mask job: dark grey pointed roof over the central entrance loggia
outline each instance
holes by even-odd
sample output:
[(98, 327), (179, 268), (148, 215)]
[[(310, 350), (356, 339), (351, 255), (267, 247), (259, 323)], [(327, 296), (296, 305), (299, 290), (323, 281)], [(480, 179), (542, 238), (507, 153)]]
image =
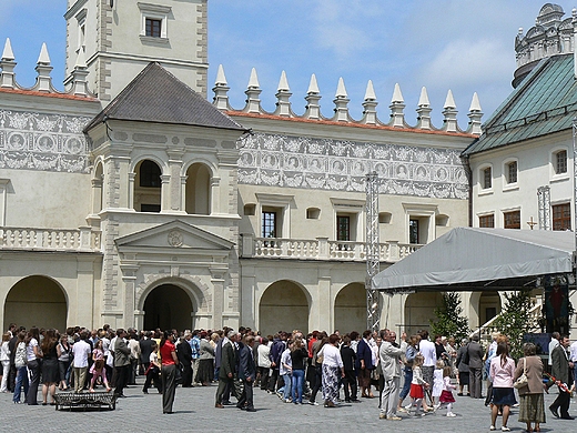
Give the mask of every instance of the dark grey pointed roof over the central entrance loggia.
[(158, 62), (149, 63), (84, 131), (104, 120), (246, 130)]

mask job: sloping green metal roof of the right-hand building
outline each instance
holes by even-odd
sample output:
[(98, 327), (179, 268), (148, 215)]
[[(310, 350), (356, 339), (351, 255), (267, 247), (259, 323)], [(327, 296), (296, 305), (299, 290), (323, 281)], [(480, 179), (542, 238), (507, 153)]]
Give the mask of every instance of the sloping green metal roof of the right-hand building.
[(544, 59), (493, 113), (470, 155), (571, 128), (577, 111), (574, 57)]

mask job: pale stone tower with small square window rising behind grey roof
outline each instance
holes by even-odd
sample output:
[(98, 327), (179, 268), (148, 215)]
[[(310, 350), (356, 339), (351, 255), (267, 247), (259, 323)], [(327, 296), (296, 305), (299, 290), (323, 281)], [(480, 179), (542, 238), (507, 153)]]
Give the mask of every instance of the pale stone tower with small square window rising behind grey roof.
[(64, 85), (75, 66), (108, 104), (151, 61), (206, 97), (207, 0), (68, 0)]

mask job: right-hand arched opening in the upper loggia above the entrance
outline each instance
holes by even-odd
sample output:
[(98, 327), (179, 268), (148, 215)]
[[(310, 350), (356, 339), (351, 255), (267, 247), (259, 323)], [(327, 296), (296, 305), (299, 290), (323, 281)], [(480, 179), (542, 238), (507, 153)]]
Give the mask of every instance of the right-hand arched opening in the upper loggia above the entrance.
[(211, 168), (195, 162), (186, 169), (184, 209), (186, 213), (209, 215), (211, 213)]

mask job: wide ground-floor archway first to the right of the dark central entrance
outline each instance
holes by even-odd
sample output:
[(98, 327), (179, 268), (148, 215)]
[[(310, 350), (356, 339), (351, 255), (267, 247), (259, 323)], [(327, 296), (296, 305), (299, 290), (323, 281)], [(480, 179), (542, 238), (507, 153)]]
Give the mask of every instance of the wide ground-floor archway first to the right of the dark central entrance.
[(308, 332), (308, 301), (303, 289), (287, 280), (272, 283), (259, 304), (259, 330), (263, 335), (279, 331)]

